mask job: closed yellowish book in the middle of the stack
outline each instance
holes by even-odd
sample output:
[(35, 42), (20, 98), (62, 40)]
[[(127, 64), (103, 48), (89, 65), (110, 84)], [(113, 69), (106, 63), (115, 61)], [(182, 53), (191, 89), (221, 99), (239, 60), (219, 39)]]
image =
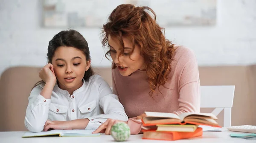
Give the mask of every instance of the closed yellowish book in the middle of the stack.
[(195, 132), (198, 128), (198, 125), (180, 125), (180, 124), (165, 124), (157, 125), (157, 132), (167, 131), (167, 132)]

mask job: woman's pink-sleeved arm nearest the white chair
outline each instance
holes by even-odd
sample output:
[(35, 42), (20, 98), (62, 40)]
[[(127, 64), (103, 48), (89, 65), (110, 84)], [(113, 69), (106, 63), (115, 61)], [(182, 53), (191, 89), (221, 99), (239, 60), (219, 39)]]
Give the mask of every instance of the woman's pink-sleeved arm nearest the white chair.
[(200, 112), (200, 80), (195, 54), (186, 50), (177, 64), (183, 66), (179, 69), (179, 109), (173, 113)]

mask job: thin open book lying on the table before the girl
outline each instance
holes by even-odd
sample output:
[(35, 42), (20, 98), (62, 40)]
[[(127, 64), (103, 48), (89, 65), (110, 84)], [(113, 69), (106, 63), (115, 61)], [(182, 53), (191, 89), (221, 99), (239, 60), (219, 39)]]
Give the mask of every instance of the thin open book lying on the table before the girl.
[(42, 137), (58, 135), (60, 137), (88, 137), (100, 136), (100, 134), (92, 134), (95, 129), (73, 129), (73, 130), (59, 130), (54, 129), (47, 132), (26, 132), (22, 137)]

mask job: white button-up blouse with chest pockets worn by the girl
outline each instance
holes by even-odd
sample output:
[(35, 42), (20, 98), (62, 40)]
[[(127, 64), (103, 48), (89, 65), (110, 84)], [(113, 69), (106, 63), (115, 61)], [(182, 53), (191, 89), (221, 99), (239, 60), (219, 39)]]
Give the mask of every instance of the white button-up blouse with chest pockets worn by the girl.
[(85, 129), (97, 129), (107, 118), (128, 120), (117, 95), (112, 93), (108, 83), (99, 75), (84, 81), (73, 95), (55, 84), (51, 99), (46, 99), (40, 95), (44, 85), (36, 86), (29, 96), (25, 126), (31, 132), (41, 132), (47, 119), (70, 121), (88, 118), (90, 121)]

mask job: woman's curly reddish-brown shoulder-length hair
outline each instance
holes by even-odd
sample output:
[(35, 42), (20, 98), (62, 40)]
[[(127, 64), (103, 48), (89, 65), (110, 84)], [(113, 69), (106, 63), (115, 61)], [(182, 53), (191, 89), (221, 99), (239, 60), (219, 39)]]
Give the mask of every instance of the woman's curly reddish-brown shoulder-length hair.
[[(151, 97), (156, 88), (159, 90), (160, 86), (165, 87), (167, 76), (172, 70), (169, 59), (174, 53), (174, 45), (165, 38), (164, 32), (165, 29), (157, 24), (156, 14), (151, 8), (136, 7), (132, 4), (117, 6), (108, 17), (108, 22), (103, 25), (102, 45), (108, 49), (106, 57), (110, 54), (109, 35), (119, 40), (122, 49), (124, 49), (122, 37), (131, 40), (132, 52), (135, 45), (139, 46), (140, 54), (145, 59)], [(112, 68), (116, 68), (116, 65), (113, 64)]]

